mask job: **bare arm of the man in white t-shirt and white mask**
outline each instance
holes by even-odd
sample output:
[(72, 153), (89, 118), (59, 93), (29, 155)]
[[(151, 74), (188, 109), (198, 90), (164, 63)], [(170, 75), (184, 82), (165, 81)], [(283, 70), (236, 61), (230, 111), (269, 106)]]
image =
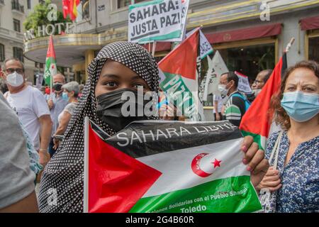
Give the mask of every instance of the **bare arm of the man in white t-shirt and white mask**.
[(40, 156), (40, 165), (45, 165), (47, 162), (49, 162), (47, 148), (50, 143), (51, 138), (51, 131), (52, 131), (52, 121), (50, 115), (43, 115), (40, 116), (39, 122), (40, 122), (40, 150), (39, 150), (39, 156)]

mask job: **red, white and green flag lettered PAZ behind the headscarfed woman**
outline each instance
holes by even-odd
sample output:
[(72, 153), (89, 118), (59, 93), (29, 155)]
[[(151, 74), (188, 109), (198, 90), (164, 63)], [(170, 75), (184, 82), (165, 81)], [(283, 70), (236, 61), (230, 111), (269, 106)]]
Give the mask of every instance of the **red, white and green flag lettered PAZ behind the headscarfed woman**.
[(174, 102), (183, 116), (191, 121), (203, 121), (203, 106), (198, 99), (198, 80), (201, 72), (199, 56), (199, 28), (169, 52), (159, 63), (159, 87), (167, 92), (169, 102)]

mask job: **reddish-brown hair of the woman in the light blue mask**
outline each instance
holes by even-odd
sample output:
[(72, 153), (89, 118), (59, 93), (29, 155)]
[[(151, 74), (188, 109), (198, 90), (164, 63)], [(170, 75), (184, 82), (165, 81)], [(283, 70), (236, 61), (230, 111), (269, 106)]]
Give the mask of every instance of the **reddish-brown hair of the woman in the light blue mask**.
[[(305, 68), (313, 71), (315, 76), (319, 79), (319, 64), (315, 61), (301, 61), (297, 62), (296, 65), (289, 67), (284, 73), (284, 79), (281, 81), (280, 90), (272, 96), (272, 101), (270, 103), (271, 113), (274, 113), (274, 119), (277, 124), (280, 124), (284, 130), (288, 130), (290, 128), (290, 118), (284, 108), (281, 106), (281, 99), (284, 96), (284, 90), (286, 87), (286, 81), (291, 74), (296, 69)], [(272, 116), (270, 114), (269, 116)]]

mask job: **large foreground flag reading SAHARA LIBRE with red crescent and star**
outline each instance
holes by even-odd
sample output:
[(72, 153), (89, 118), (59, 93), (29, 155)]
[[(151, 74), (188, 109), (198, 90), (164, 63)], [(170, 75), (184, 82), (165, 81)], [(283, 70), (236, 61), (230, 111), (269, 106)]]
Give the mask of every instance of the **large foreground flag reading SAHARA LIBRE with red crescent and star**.
[(135, 121), (108, 136), (86, 118), (85, 212), (261, 209), (228, 121)]

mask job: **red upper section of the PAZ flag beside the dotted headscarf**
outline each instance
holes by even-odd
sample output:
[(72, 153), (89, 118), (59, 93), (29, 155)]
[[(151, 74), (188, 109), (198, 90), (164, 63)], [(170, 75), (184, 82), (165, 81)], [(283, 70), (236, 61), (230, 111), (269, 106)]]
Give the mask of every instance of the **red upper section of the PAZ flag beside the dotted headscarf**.
[(162, 72), (179, 74), (182, 77), (196, 79), (198, 40), (199, 28), (158, 63)]

